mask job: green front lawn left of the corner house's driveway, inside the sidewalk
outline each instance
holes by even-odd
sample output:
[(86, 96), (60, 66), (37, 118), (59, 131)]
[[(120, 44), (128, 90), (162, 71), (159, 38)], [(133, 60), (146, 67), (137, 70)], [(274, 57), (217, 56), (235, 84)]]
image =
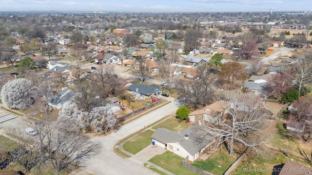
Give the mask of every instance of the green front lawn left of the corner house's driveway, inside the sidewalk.
[(139, 134), (137, 137), (125, 142), (122, 148), (135, 155), (148, 145), (152, 144), (151, 136), (153, 133), (154, 131), (147, 130)]

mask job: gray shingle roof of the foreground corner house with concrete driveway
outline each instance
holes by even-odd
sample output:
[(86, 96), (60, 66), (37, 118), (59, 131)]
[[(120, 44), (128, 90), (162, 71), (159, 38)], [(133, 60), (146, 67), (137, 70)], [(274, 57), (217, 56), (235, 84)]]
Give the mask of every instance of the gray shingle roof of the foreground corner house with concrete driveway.
[[(166, 128), (158, 128), (152, 135), (152, 138), (160, 141), (161, 143), (179, 143), (188, 153), (195, 155), (199, 150), (207, 146), (213, 140), (212, 136), (206, 135), (204, 140), (196, 140), (195, 135), (198, 134), (196, 126), (192, 125), (180, 133), (178, 131), (171, 131)], [(185, 135), (189, 136), (189, 139), (184, 138)]]

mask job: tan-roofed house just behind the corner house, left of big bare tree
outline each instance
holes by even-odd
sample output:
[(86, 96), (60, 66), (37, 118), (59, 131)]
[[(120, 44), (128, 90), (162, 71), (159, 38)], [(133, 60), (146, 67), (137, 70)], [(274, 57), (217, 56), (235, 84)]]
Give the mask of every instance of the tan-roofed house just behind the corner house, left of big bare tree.
[(189, 114), (191, 122), (204, 120), (209, 123), (218, 123), (223, 113), (229, 108), (229, 104), (225, 101), (217, 101), (211, 105), (207, 105), (201, 109), (197, 109)]

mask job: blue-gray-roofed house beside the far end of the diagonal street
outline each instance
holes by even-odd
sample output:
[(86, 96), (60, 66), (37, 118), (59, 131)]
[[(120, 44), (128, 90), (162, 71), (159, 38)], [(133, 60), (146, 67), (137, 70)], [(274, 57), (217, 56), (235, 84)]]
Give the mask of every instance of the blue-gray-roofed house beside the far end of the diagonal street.
[(131, 93), (136, 98), (140, 99), (151, 99), (154, 96), (158, 96), (162, 94), (162, 89), (158, 88), (156, 85), (143, 85), (134, 83), (127, 88), (128, 93)]

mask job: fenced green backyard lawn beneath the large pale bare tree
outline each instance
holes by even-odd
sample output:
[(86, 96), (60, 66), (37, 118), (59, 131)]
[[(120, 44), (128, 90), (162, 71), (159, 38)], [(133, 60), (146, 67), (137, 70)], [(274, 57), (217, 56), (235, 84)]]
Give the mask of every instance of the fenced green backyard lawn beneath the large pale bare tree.
[[(196, 160), (192, 164), (206, 172), (215, 173), (217, 175), (223, 175), (223, 173), (232, 165), (239, 155), (234, 154), (230, 156), (225, 147), (215, 150), (212, 155), (206, 160)], [(221, 167), (218, 167), (221, 166)]]

